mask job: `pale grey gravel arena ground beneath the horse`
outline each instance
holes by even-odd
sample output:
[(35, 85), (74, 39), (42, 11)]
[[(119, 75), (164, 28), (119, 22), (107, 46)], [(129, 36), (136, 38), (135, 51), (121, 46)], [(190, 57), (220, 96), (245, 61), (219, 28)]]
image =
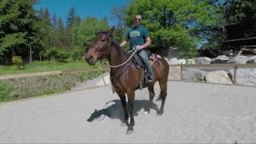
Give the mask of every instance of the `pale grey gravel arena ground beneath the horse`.
[(160, 117), (143, 114), (147, 100), (146, 89), (136, 91), (130, 135), (110, 86), (0, 103), (0, 143), (256, 142), (255, 87), (168, 82)]

